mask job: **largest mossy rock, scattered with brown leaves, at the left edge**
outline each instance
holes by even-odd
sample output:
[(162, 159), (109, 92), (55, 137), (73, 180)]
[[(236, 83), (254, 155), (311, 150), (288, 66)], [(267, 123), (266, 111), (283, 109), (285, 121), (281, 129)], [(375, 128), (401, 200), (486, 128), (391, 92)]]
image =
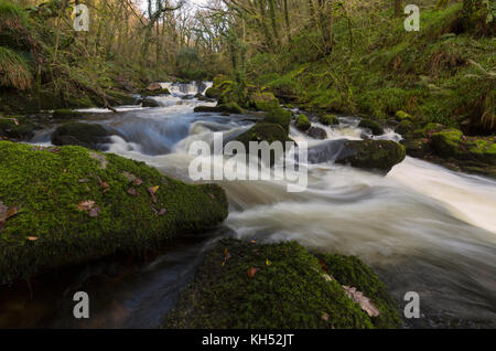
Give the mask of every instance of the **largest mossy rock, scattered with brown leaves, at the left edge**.
[[(10, 141), (0, 141), (0, 284), (153, 249), (227, 216), (219, 187), (185, 184), (116, 155)], [(2, 221), (2, 206), (17, 214)]]

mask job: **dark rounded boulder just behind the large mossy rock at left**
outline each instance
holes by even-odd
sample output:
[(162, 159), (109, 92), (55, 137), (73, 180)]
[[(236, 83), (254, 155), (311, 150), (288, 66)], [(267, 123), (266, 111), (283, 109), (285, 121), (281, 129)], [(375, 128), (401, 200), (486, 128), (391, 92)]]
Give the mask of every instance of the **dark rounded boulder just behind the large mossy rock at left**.
[(110, 134), (100, 125), (68, 123), (55, 129), (52, 142), (56, 146), (82, 146), (94, 150), (105, 150), (110, 141)]

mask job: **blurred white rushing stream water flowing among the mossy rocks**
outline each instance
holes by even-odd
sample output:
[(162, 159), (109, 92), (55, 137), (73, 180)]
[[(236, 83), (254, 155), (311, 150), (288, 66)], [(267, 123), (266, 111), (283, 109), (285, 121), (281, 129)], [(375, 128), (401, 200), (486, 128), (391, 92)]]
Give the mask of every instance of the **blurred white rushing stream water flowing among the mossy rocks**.
[[(209, 84), (164, 86), (173, 94), (157, 97), (158, 108), (123, 106), (117, 115), (103, 109), (85, 111), (90, 123), (114, 131), (109, 152), (145, 161), (190, 181), (191, 142), (212, 141), (214, 132), (219, 131), (226, 137), (242, 132), (252, 125), (252, 118), (194, 114), (195, 106), (208, 103), (190, 95)], [(343, 117), (337, 127), (314, 126), (325, 129), (327, 139), (360, 139), (366, 131), (357, 124), (356, 118)], [(48, 143), (53, 130), (54, 126), (39, 132), (32, 142)], [(293, 128), (291, 137), (308, 141), (311, 148), (328, 142), (313, 140)], [(380, 138), (398, 141), (400, 136), (389, 130)], [(34, 302), (18, 302), (18, 313), (33, 306), (40, 310), (35, 317), (20, 318), (19, 323), (159, 327), (181, 288), (193, 277), (206, 247), (215, 237), (234, 235), (265, 242), (298, 241), (309, 248), (359, 256), (379, 273), (400, 304), (405, 304), (407, 291), (420, 294), (422, 318), (406, 320), (409, 327), (495, 327), (494, 180), (413, 158), (407, 158), (387, 177), (330, 163), (306, 167), (309, 188), (301, 193), (287, 192), (283, 181), (220, 182), (230, 204), (225, 226), (205, 237), (177, 243), (144, 267), (117, 275), (118, 279), (116, 274), (101, 274), (108, 265), (86, 268), (72, 287), (54, 289), (48, 297), (58, 300), (53, 302), (58, 312), (53, 308), (46, 311), (46, 302), (40, 301), (47, 298), (43, 294), (37, 300), (35, 296)], [(89, 323), (71, 318), (67, 291), (75, 289), (74, 285), (96, 295), (96, 317)]]

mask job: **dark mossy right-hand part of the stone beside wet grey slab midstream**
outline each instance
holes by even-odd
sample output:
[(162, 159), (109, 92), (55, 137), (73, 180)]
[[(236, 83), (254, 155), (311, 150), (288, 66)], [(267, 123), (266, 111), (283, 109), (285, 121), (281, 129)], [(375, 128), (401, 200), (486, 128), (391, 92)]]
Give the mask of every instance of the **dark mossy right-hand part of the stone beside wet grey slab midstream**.
[(336, 158), (336, 163), (388, 173), (402, 162), (407, 151), (405, 146), (390, 140), (346, 140)]

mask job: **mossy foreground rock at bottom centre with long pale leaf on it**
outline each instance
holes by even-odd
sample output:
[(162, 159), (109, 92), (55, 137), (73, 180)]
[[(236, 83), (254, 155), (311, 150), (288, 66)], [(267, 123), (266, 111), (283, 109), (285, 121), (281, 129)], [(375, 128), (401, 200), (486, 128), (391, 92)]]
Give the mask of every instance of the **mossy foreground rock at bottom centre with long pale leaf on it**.
[[(369, 317), (343, 285), (359, 287), (380, 315)], [(293, 242), (261, 245), (228, 238), (206, 255), (164, 327), (398, 328), (400, 319), (384, 284), (357, 258), (326, 255), (320, 263)]]

